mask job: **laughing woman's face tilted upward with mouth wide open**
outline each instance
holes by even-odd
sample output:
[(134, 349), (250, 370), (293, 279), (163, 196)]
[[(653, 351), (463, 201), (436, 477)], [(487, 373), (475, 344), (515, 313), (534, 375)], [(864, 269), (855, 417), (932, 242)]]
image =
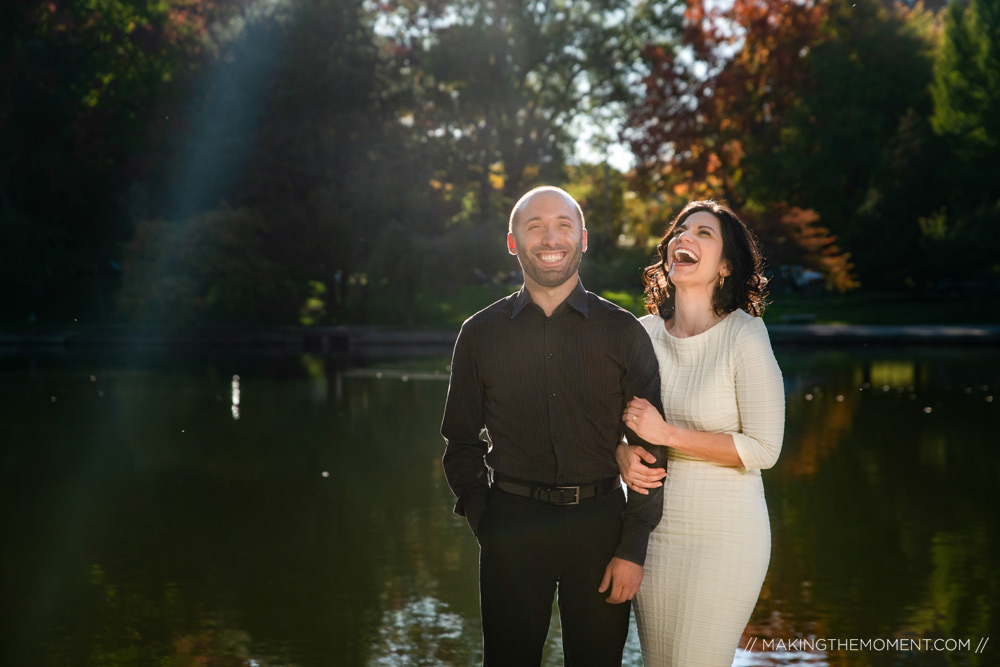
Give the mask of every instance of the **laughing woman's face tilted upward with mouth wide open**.
[(722, 258), (722, 223), (708, 211), (692, 213), (667, 243), (667, 275), (676, 286), (717, 284), (731, 272)]

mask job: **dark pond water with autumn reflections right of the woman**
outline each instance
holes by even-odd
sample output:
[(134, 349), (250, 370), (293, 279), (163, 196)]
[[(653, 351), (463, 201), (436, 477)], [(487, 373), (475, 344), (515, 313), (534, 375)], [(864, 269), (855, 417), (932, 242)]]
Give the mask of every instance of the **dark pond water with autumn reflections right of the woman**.
[[(786, 449), (767, 481), (775, 548), (746, 643), (753, 637), (978, 641), (996, 630), (1000, 578), (985, 564), (1000, 555), (994, 492), (1000, 457), (987, 426), (997, 413), (985, 397), (988, 381), (1000, 373), (980, 354), (781, 355)], [(966, 391), (973, 385), (976, 391)], [(977, 550), (963, 543), (935, 558), (937, 544), (950, 542), (946, 536), (968, 533), (982, 538)], [(980, 566), (958, 573), (947, 564), (952, 558)], [(964, 618), (972, 609), (979, 612), (975, 621)], [(829, 665), (992, 662), (970, 651), (845, 650), (820, 657)]]

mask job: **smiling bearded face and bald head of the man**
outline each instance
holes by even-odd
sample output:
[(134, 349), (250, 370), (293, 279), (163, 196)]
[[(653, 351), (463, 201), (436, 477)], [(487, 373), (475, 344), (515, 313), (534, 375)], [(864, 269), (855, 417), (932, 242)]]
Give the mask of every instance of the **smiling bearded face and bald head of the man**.
[(517, 255), (526, 282), (558, 287), (576, 278), (587, 230), (565, 195), (539, 192), (521, 205), (507, 246)]

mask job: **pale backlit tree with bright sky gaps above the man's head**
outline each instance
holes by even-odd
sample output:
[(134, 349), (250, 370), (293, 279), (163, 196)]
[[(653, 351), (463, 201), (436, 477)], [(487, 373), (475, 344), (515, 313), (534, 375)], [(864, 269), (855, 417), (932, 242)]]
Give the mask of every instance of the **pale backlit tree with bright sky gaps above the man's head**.
[(640, 45), (675, 22), (672, 4), (612, 0), (382, 7), (414, 93), (407, 120), (434, 147), (436, 180), (472, 195), (459, 212), (474, 225), (561, 180), (574, 118), (624, 99)]

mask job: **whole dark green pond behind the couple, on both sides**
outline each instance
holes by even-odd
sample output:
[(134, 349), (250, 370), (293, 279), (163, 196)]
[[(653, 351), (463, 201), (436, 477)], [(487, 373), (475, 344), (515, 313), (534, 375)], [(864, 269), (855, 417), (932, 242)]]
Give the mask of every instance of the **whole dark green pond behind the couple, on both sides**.
[[(735, 664), (998, 664), (1000, 355), (776, 352), (772, 559)], [(0, 663), (476, 664), (447, 366), (0, 357)]]

